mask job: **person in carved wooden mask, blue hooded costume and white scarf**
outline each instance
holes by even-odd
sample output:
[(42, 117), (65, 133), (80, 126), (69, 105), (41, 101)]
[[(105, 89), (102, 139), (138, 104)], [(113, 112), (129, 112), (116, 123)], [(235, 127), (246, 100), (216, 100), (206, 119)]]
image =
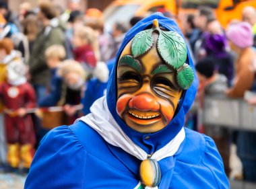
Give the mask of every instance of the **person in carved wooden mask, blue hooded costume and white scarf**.
[(183, 128), (194, 75), (173, 20), (155, 13), (138, 22), (106, 96), (88, 116), (44, 137), (25, 188), (228, 188), (214, 141)]

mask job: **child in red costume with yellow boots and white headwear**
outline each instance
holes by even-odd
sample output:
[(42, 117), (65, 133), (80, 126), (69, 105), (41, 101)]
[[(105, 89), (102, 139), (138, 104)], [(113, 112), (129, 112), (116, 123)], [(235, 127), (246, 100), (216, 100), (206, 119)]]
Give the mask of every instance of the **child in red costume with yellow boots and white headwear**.
[(36, 94), (26, 81), (26, 72), (22, 61), (12, 61), (7, 65), (7, 81), (0, 85), (5, 107), (7, 163), (11, 170), (22, 163), (27, 171), (34, 157), (34, 127), (27, 110), (36, 107)]

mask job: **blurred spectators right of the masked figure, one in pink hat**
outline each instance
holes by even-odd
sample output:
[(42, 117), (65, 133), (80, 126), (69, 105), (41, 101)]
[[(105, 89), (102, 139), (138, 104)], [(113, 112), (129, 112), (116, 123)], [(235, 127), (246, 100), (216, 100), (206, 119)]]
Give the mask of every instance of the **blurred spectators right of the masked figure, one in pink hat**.
[(256, 133), (203, 126), (200, 119), (205, 96), (244, 98), (251, 106), (256, 104), (255, 8), (245, 7), (241, 15), (242, 20), (232, 20), (227, 28), (222, 28), (209, 7), (199, 7), (187, 16), (184, 33), (199, 80), (187, 126), (214, 139), (231, 179), (255, 182)]

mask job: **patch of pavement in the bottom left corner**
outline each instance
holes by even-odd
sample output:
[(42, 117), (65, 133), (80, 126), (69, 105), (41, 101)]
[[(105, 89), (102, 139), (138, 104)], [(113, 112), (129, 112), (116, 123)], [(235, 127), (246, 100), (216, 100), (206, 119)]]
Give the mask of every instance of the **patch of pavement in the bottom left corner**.
[(1, 189), (23, 189), (26, 176), (18, 174), (3, 174), (0, 173), (0, 188)]

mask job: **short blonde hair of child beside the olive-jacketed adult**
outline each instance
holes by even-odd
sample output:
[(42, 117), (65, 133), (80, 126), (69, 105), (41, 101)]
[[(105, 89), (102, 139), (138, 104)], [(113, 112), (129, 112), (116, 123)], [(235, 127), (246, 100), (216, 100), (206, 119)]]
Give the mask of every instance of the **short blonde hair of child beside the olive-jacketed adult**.
[(45, 50), (45, 56), (46, 56), (46, 59), (57, 58), (60, 61), (63, 61), (66, 56), (65, 48), (64, 48), (64, 46), (59, 45), (59, 44), (49, 46)]

